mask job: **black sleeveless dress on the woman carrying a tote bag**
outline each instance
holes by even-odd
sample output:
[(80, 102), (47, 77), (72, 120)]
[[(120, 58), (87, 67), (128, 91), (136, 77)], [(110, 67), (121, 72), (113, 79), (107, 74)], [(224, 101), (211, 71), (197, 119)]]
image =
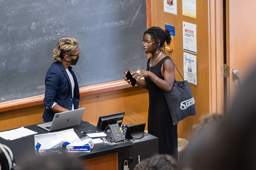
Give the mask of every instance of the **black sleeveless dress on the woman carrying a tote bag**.
[[(154, 67), (149, 67), (150, 59), (147, 62), (147, 71), (153, 72), (157, 75), (158, 80), (164, 79), (161, 74), (161, 67), (166, 56)], [(177, 157), (178, 141), (177, 141), (177, 125), (172, 124), (172, 118), (169, 108), (161, 88), (159, 88), (150, 78), (145, 77), (148, 87), (149, 107), (148, 107), (148, 133), (158, 137), (159, 154), (169, 154)]]

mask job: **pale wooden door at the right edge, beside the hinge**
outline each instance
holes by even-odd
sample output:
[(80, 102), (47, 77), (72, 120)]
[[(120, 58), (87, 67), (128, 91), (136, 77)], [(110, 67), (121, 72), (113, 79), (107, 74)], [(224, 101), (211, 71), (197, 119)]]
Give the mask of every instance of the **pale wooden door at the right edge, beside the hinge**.
[(226, 79), (224, 95), (226, 95), (227, 112), (241, 88), (239, 81), (233, 81), (236, 78), (233, 69), (237, 68), (241, 74), (240, 82), (244, 84), (251, 71), (256, 68), (255, 6), (254, 0), (226, 0), (226, 63), (229, 66), (229, 78)]

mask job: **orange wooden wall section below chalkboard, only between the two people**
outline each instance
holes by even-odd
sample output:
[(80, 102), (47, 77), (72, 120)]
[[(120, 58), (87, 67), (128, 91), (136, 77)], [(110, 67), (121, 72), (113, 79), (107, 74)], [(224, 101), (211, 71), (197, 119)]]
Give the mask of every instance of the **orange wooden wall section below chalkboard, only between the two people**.
[(83, 120), (96, 126), (101, 115), (125, 112), (123, 123), (147, 123), (148, 91), (141, 88), (123, 91), (82, 97), (82, 107), (85, 107)]

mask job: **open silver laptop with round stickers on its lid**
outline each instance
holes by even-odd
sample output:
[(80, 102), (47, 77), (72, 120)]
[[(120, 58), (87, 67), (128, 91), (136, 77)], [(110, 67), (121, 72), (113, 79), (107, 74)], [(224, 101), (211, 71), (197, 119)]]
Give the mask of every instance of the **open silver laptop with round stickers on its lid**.
[(41, 123), (37, 126), (49, 132), (77, 126), (82, 120), (84, 110), (85, 108), (79, 108), (73, 111), (56, 113), (52, 122)]

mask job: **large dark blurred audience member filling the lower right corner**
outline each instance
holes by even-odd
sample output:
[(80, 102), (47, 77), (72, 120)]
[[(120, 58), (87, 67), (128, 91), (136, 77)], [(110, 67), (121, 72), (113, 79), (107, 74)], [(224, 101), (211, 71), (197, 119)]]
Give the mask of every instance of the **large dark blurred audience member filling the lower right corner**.
[[(250, 76), (249, 76), (250, 77)], [(256, 72), (219, 124), (202, 129), (189, 142), (181, 167), (192, 170), (256, 169)]]

